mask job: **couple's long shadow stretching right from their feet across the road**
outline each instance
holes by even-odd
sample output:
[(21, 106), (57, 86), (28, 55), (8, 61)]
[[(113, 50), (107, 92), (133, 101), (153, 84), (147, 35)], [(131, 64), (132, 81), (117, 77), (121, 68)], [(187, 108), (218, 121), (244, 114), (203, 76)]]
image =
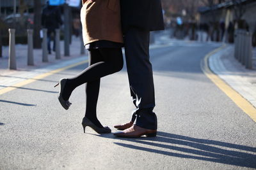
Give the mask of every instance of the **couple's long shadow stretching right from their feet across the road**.
[(171, 157), (205, 160), (232, 166), (256, 167), (256, 148), (250, 146), (236, 145), (211, 139), (191, 138), (167, 132), (157, 132), (156, 138), (115, 138), (112, 135), (101, 136), (103, 138), (131, 141), (132, 144), (121, 142), (115, 142), (115, 144), (135, 150), (143, 150)]

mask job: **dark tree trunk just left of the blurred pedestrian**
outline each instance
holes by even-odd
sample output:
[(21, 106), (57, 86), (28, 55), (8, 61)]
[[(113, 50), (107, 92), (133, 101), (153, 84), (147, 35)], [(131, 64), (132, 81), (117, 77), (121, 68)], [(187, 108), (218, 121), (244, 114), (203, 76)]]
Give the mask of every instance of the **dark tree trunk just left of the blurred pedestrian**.
[(42, 17), (42, 4), (41, 1), (34, 0), (34, 48), (41, 48), (40, 29)]

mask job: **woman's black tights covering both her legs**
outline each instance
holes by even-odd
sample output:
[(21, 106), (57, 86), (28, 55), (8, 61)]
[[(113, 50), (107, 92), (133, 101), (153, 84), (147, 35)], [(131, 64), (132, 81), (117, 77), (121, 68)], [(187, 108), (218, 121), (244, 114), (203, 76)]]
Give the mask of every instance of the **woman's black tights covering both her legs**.
[(67, 101), (74, 89), (86, 83), (85, 117), (95, 125), (102, 127), (97, 119), (97, 101), (99, 97), (100, 78), (116, 73), (124, 65), (122, 48), (97, 48), (89, 50), (89, 67), (73, 78), (68, 78), (63, 99)]

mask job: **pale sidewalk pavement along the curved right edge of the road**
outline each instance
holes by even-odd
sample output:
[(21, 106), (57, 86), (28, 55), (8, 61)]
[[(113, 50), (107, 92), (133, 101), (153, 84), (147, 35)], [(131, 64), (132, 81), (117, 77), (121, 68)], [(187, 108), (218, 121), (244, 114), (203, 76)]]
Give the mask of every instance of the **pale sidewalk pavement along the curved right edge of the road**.
[(209, 67), (256, 108), (256, 49), (253, 58), (253, 69), (245, 69), (234, 58), (234, 45), (226, 45), (209, 57)]

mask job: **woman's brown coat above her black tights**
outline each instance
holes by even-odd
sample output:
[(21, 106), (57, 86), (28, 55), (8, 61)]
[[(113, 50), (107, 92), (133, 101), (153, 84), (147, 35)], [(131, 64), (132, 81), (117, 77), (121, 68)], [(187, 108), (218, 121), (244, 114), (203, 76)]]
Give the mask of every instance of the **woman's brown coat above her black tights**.
[(99, 40), (124, 43), (120, 0), (82, 0), (81, 23), (84, 45)]

